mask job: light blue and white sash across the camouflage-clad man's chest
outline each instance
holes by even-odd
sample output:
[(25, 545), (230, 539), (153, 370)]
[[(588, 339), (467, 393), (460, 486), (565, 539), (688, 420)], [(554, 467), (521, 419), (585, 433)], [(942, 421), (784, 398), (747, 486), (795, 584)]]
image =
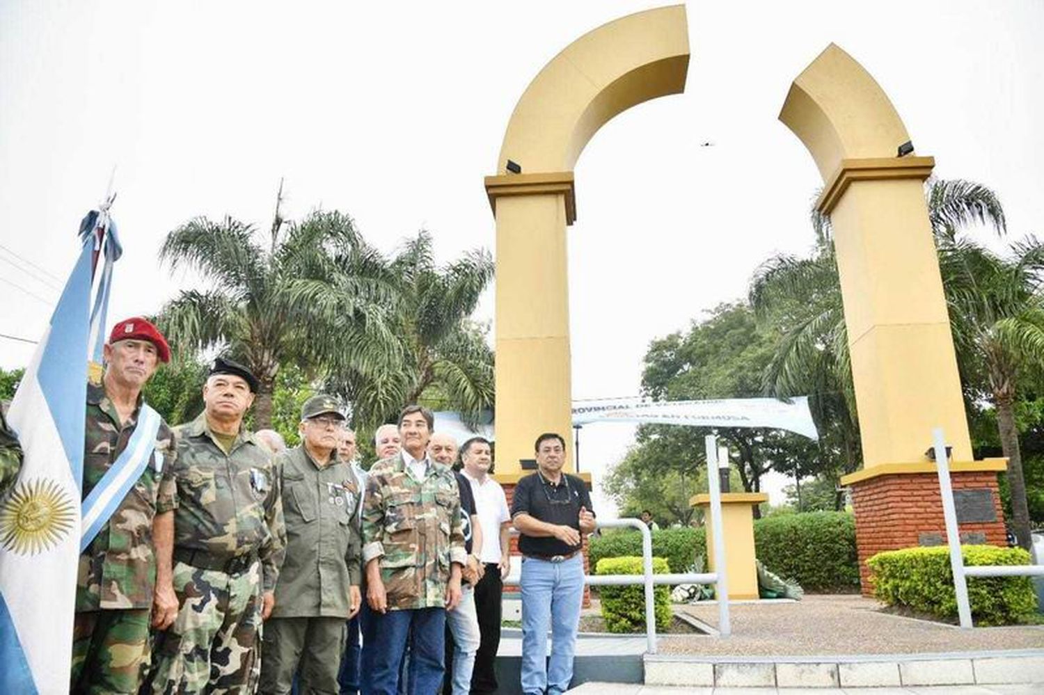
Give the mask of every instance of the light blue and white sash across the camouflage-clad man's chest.
[[(91, 545), (101, 527), (119, 508), (123, 498), (130, 492), (130, 487), (138, 482), (138, 478), (145, 471), (149, 459), (153, 458), (152, 450), (156, 448), (156, 435), (160, 431), (162, 422), (160, 413), (156, 412), (147, 403), (141, 404), (138, 424), (134, 428), (134, 434), (130, 435), (126, 448), (84, 500), (79, 552), (84, 552)], [(156, 452), (155, 458), (156, 469), (159, 472), (163, 468), (162, 454)]]

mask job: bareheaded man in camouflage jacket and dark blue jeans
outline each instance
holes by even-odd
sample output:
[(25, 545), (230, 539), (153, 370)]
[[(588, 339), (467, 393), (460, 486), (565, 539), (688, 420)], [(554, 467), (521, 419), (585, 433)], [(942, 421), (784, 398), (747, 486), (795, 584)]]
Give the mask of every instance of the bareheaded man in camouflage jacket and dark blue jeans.
[(460, 600), (467, 552), (456, 480), (427, 455), (433, 424), (427, 408), (404, 408), (402, 451), (370, 470), (362, 517), (366, 601), (374, 612), (374, 639), (363, 636), (367, 694), (397, 692), (407, 639), (407, 693), (432, 695), (443, 680), (446, 610)]

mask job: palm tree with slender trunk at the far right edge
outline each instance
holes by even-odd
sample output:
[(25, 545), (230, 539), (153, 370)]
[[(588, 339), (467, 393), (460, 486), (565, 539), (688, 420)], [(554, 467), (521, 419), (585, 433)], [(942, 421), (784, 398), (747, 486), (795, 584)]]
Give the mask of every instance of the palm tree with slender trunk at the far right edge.
[(1001, 451), (1007, 457), (1015, 534), (1029, 549), (1029, 510), (1015, 423), (1020, 377), (1044, 364), (1044, 244), (1029, 237), (1007, 258), (965, 240), (940, 246), (950, 327), (962, 381), (997, 409)]

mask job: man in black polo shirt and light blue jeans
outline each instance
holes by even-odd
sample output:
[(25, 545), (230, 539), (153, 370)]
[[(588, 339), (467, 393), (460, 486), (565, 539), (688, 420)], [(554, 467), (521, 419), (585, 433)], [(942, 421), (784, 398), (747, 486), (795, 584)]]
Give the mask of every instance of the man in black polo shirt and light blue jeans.
[[(521, 533), (522, 692), (555, 695), (569, 689), (584, 600), (583, 535), (595, 528), (591, 497), (576, 476), (562, 472), (566, 440), (537, 437), (537, 473), (519, 480), (512, 522)], [(551, 658), (547, 628), (551, 626)]]

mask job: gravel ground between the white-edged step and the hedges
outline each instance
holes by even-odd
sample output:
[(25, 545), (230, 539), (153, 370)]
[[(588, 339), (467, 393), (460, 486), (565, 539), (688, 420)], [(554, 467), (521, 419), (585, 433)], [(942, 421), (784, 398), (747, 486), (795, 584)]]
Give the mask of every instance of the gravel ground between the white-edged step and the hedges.
[[(660, 638), (661, 653), (734, 656), (898, 654), (1044, 648), (1044, 625), (955, 626), (879, 613), (861, 596), (806, 596), (794, 603), (731, 605), (732, 637)], [(717, 604), (673, 606), (717, 627)]]

